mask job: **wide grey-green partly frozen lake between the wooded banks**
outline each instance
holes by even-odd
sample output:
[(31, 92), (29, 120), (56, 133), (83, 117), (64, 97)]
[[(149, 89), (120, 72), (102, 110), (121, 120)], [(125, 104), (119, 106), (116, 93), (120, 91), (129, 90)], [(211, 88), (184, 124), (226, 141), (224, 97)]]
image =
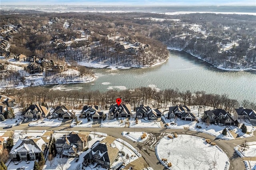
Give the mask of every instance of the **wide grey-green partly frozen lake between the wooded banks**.
[(169, 59), (150, 68), (92, 69), (90, 83), (56, 85), (53, 89), (99, 90), (152, 87), (227, 94), (231, 99), (256, 103), (256, 71), (224, 71), (183, 51), (170, 50)]

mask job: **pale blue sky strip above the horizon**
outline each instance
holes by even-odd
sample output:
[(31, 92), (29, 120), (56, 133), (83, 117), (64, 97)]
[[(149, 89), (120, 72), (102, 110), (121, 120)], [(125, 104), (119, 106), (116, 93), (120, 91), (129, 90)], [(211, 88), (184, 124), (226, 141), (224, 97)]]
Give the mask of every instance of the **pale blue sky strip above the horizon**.
[(0, 0), (2, 5), (256, 6), (256, 0)]

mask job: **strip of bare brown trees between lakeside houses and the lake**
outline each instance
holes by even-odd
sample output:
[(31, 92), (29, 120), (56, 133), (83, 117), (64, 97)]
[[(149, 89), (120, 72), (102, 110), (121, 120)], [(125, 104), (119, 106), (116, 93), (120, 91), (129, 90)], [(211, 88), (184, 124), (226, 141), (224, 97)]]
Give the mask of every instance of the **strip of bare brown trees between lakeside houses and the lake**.
[(233, 109), (243, 106), (256, 110), (255, 103), (244, 100), (239, 103), (236, 99), (230, 99), (228, 95), (208, 94), (205, 91), (179, 91), (178, 89), (165, 89), (156, 91), (150, 87), (126, 89), (122, 91), (60, 91), (50, 90), (45, 87), (28, 87), (25, 89), (6, 89), (3, 94), (13, 95), (17, 99), (19, 107), (26, 109), (30, 104), (41, 104), (49, 107), (58, 105), (71, 105), (76, 109), (82, 109), (84, 105), (99, 105), (101, 109), (108, 109), (116, 103), (116, 98), (121, 98), (122, 103), (130, 103), (132, 109), (139, 105), (151, 105), (155, 108), (168, 109), (175, 105), (198, 105), (199, 109), (211, 106), (214, 109), (223, 108), (232, 112)]

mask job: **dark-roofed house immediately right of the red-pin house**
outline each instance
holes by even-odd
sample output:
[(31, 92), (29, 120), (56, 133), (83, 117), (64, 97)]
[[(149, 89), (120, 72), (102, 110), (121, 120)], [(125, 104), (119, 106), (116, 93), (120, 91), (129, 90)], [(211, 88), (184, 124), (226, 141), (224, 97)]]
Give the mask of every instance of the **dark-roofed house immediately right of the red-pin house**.
[(149, 106), (140, 105), (140, 107), (136, 107), (135, 109), (136, 109), (136, 117), (138, 119), (147, 117), (149, 120), (156, 120), (157, 117), (162, 115), (159, 109), (152, 109)]

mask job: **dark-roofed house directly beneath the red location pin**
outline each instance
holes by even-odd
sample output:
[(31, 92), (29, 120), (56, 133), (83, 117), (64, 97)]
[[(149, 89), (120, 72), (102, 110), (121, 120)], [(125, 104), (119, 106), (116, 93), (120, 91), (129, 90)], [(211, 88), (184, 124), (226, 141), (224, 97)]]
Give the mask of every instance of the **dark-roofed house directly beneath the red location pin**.
[(114, 119), (119, 117), (131, 117), (131, 105), (130, 104), (120, 104), (119, 106), (111, 105), (108, 112), (108, 118)]

